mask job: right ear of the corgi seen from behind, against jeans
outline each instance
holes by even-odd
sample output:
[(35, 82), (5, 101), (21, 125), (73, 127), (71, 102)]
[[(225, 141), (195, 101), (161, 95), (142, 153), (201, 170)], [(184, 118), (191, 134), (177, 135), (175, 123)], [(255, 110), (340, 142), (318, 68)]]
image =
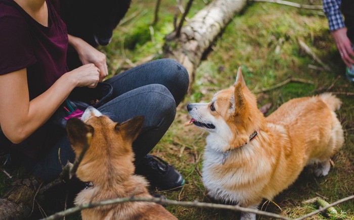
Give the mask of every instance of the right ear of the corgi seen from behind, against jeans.
[(137, 116), (131, 118), (121, 124), (117, 124), (115, 129), (122, 132), (126, 138), (130, 138), (131, 142), (134, 141), (140, 134), (144, 124), (144, 116)]

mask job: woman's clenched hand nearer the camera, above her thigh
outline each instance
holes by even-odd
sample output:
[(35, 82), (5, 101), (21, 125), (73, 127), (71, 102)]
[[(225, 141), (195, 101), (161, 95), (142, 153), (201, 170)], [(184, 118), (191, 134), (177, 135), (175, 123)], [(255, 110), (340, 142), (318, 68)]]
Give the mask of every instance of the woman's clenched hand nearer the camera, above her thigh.
[(100, 69), (94, 64), (86, 64), (68, 72), (73, 78), (75, 87), (87, 86), (95, 88), (100, 81)]

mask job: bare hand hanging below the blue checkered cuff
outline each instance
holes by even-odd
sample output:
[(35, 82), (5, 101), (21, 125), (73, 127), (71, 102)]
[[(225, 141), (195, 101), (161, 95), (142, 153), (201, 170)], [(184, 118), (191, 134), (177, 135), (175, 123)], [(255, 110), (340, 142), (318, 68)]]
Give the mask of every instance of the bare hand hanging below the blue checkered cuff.
[(331, 33), (340, 53), (340, 57), (345, 65), (350, 68), (351, 65), (354, 65), (354, 60), (352, 59), (354, 58), (354, 51), (352, 50), (350, 40), (346, 35), (346, 28), (340, 28)]

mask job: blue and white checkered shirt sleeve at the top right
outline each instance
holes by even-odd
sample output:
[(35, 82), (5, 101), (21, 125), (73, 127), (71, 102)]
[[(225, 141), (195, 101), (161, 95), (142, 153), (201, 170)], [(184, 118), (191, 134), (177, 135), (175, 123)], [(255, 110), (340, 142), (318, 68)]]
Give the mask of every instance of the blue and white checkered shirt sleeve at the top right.
[(340, 13), (341, 0), (322, 0), (322, 5), (328, 19), (330, 31), (345, 27), (342, 14)]

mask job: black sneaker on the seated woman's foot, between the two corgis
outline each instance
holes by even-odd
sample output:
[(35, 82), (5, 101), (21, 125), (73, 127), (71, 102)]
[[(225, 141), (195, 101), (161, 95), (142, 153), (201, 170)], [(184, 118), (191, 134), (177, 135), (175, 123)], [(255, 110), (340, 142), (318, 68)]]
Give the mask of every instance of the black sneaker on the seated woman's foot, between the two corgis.
[(180, 172), (161, 158), (149, 154), (140, 161), (136, 174), (145, 176), (151, 186), (160, 190), (180, 189), (185, 184)]

